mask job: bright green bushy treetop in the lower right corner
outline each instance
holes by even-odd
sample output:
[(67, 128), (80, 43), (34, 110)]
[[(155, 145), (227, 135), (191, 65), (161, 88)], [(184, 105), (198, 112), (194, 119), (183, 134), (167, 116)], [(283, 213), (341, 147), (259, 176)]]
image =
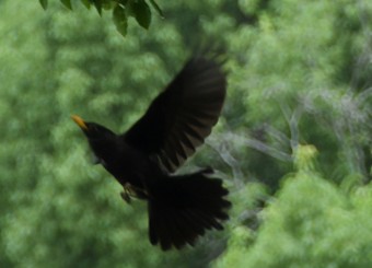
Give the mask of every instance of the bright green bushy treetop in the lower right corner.
[[(311, 165), (312, 160), (307, 162)], [(346, 194), (309, 171), (309, 165), (284, 179), (276, 198), (261, 212), (264, 224), (258, 234), (243, 226), (232, 230), (229, 250), (216, 267), (371, 265), (371, 185)]]

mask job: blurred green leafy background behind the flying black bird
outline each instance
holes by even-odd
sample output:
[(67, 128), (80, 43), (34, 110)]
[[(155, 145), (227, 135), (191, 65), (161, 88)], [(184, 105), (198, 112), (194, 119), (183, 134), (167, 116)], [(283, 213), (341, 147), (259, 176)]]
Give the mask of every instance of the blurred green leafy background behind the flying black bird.
[[(80, 1), (0, 1), (0, 267), (372, 267), (372, 1), (158, 3), (124, 38)], [(184, 168), (219, 171), (231, 220), (163, 253), (70, 115), (124, 131), (214, 43), (229, 95)]]

